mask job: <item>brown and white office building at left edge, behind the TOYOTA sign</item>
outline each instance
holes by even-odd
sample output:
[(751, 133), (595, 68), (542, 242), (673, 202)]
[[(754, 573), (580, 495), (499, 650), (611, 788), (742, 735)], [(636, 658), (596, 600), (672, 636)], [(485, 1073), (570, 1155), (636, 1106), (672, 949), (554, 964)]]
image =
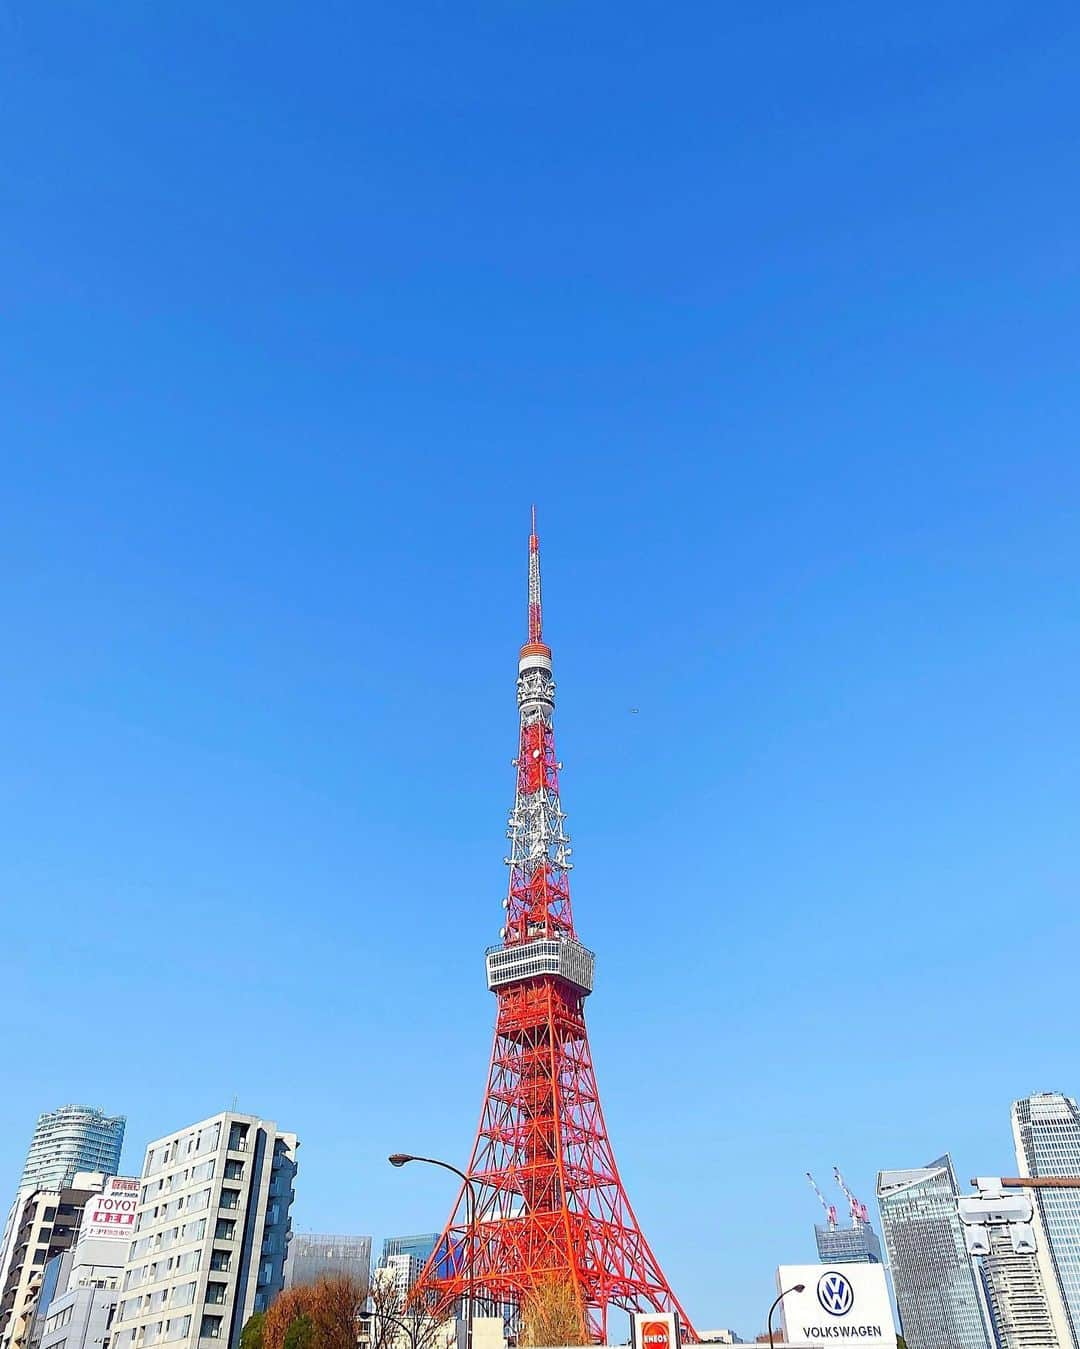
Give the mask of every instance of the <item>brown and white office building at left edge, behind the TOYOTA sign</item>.
[(76, 1242), (86, 1201), (100, 1193), (105, 1176), (77, 1174), (76, 1186), (20, 1190), (9, 1252), (0, 1288), (0, 1349), (22, 1349), (32, 1322), (49, 1261)]

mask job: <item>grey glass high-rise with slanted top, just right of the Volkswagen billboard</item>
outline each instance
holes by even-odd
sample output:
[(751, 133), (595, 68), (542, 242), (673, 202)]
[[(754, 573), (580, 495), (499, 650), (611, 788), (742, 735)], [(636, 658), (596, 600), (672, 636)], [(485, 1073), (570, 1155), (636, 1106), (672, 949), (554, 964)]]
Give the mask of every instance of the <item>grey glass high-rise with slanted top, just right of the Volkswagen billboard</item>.
[(956, 1211), (948, 1153), (878, 1174), (878, 1207), (909, 1349), (991, 1349), (983, 1290)]

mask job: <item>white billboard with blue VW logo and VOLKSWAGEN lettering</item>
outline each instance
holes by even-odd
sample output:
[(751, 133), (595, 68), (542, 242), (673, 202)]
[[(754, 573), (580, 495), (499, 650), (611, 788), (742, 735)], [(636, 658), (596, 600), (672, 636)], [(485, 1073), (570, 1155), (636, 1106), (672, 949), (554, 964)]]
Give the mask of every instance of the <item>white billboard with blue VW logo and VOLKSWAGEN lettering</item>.
[[(802, 1284), (802, 1292), (794, 1292)], [(781, 1265), (781, 1322), (789, 1345), (868, 1340), (894, 1349), (897, 1327), (879, 1264)]]

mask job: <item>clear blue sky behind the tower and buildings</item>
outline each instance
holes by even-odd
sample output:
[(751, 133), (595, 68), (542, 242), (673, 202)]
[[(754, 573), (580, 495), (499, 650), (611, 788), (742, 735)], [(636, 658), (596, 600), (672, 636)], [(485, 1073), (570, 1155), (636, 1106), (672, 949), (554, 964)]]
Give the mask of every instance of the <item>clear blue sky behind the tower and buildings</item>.
[[(1072, 5), (3, 0), (4, 1090), (441, 1224), (529, 503), (591, 1032), (701, 1325), (1076, 1050)], [(639, 707), (632, 716), (630, 707)], [(444, 1178), (445, 1179), (445, 1178)]]

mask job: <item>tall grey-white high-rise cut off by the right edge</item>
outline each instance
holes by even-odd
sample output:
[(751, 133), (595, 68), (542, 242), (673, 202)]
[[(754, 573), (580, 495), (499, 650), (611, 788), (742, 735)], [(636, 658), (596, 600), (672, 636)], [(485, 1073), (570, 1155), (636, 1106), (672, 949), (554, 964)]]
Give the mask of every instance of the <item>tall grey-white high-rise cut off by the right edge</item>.
[[(1042, 1091), (1013, 1102), (1013, 1140), (1023, 1176), (1080, 1176), (1080, 1109)], [(1080, 1346), (1080, 1190), (1033, 1188), (1038, 1267), (1061, 1349)]]

